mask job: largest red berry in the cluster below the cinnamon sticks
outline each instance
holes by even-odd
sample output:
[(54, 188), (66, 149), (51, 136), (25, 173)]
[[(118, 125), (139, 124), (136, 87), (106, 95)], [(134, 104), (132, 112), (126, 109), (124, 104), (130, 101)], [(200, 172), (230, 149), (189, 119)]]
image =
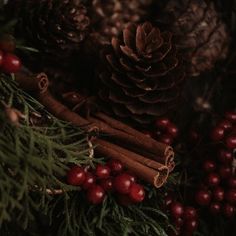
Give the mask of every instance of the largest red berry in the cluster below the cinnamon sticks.
[(127, 194), (130, 192), (132, 185), (131, 177), (129, 174), (123, 173), (114, 178), (113, 186), (118, 193)]

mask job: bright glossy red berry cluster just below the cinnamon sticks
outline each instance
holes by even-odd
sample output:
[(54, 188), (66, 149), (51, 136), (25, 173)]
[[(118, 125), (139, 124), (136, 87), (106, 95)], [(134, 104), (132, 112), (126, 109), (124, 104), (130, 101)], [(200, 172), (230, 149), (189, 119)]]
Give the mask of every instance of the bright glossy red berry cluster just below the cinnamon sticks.
[(108, 192), (116, 193), (123, 205), (142, 202), (145, 198), (143, 186), (136, 182), (134, 175), (124, 171), (124, 166), (117, 160), (98, 164), (95, 170), (74, 166), (67, 173), (67, 183), (81, 186), (92, 204), (102, 203)]

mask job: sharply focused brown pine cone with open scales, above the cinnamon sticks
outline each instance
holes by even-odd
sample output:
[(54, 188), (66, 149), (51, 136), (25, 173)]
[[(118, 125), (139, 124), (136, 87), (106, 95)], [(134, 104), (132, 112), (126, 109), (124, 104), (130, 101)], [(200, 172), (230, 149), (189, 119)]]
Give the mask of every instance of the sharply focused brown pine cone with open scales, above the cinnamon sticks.
[(185, 73), (171, 33), (129, 24), (102, 54), (99, 97), (109, 112), (144, 125), (175, 107)]

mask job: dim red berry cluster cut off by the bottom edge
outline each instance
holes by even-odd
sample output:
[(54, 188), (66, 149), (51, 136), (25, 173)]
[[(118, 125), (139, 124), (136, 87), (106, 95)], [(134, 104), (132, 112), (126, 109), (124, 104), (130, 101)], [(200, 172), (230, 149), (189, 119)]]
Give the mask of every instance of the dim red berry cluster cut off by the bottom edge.
[(184, 206), (175, 201), (171, 195), (165, 197), (165, 206), (170, 212), (176, 232), (170, 230), (169, 236), (186, 235), (191, 236), (198, 227), (198, 214), (194, 207)]

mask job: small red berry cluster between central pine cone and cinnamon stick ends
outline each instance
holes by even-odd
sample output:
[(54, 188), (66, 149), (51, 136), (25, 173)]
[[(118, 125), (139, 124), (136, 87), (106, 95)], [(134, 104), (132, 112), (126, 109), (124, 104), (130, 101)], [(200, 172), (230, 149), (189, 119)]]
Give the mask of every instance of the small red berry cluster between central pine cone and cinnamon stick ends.
[(145, 131), (144, 133), (159, 142), (171, 145), (177, 138), (179, 130), (168, 118), (158, 118), (155, 122), (155, 131)]

